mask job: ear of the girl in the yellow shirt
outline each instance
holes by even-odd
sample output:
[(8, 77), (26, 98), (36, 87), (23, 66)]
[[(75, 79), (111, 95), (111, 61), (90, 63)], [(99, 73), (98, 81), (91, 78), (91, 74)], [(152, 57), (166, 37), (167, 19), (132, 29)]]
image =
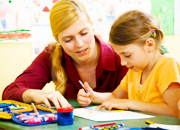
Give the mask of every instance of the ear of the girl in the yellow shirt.
[(156, 43), (155, 43), (154, 39), (148, 38), (145, 42), (145, 47), (148, 52), (154, 51), (154, 49), (156, 48)]

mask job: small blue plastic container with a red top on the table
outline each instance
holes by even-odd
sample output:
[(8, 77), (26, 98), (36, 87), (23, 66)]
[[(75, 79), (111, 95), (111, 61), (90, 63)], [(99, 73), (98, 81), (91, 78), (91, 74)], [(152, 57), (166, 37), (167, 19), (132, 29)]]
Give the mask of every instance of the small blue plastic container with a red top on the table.
[(58, 125), (72, 125), (74, 121), (73, 107), (58, 108)]

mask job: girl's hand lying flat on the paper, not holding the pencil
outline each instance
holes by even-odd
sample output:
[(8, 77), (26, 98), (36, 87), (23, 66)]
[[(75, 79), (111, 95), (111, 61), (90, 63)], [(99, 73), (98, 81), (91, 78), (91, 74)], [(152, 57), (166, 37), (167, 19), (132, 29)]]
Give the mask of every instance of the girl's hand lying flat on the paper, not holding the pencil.
[(97, 107), (97, 109), (105, 108), (107, 110), (111, 109), (123, 109), (128, 110), (129, 100), (128, 99), (111, 99), (109, 101), (106, 101), (102, 103), (100, 106)]

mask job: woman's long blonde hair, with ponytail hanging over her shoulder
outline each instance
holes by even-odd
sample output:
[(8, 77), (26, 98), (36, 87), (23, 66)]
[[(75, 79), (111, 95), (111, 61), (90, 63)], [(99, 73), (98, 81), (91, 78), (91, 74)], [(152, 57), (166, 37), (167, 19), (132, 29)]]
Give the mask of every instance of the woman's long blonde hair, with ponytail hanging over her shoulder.
[[(82, 15), (91, 22), (89, 15), (78, 0), (58, 1), (50, 12), (50, 25), (54, 38), (58, 41), (58, 34), (72, 25)], [(67, 74), (65, 71), (62, 46), (55, 43), (52, 52), (52, 80), (56, 85), (56, 91), (64, 94), (66, 90)]]

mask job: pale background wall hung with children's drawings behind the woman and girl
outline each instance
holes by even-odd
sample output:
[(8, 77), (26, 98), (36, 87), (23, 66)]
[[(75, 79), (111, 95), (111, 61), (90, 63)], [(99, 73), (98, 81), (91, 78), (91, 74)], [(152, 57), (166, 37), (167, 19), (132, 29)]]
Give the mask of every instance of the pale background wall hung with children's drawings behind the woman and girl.
[[(49, 42), (55, 41), (49, 14), (57, 1), (0, 0), (0, 95)], [(122, 13), (137, 9), (151, 14), (161, 23), (163, 45), (180, 60), (180, 0), (79, 1), (106, 42), (112, 23)], [(47, 86), (45, 89), (54, 90), (52, 85)]]

